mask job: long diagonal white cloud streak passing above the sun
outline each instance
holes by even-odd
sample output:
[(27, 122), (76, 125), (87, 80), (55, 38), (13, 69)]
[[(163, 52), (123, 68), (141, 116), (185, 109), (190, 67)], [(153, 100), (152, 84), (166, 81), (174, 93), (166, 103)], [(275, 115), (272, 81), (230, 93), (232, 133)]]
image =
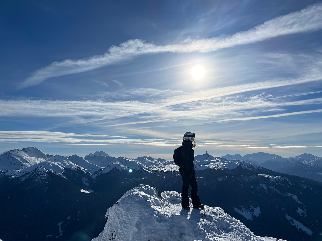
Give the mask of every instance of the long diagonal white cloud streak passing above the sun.
[(53, 62), (51, 65), (37, 70), (27, 78), (18, 88), (38, 85), (50, 77), (64, 76), (81, 73), (106, 65), (111, 65), (122, 60), (134, 58), (142, 54), (156, 54), (163, 52), (190, 53), (210, 52), (236, 45), (255, 43), (270, 38), (308, 32), (322, 29), (322, 4), (309, 5), (307, 8), (273, 18), (248, 31), (237, 32), (231, 36), (220, 36), (209, 39), (187, 39), (180, 44), (158, 46), (146, 43), (143, 40), (134, 39), (121, 43), (119, 46), (111, 46), (103, 55), (96, 55), (88, 59)]

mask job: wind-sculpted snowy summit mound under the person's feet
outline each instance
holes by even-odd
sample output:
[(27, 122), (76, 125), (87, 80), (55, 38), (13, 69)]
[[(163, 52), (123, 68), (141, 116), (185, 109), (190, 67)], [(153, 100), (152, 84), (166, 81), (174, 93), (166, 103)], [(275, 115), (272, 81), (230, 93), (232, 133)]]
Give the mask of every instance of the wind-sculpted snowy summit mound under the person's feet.
[(273, 240), (255, 236), (221, 208), (182, 210), (178, 192), (160, 194), (156, 188), (142, 184), (125, 193), (107, 210), (106, 217), (104, 230), (92, 241)]

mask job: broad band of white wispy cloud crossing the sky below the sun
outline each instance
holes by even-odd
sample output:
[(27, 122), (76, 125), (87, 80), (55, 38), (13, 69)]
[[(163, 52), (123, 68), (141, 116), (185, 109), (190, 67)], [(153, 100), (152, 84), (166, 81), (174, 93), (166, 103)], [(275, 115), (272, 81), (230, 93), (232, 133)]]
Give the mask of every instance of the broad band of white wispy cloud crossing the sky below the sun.
[[(171, 97), (169, 97), (171, 98)], [(322, 104), (322, 98), (298, 101), (280, 101), (270, 94), (258, 94), (246, 97), (227, 96), (207, 101), (196, 101), (175, 106), (163, 106), (163, 101), (144, 103), (140, 101), (95, 102), (95, 101), (43, 101), (43, 100), (0, 100), (0, 116), (56, 117), (62, 118), (52, 128), (86, 124), (88, 126), (116, 128), (144, 123), (167, 123), (176, 126), (177, 122), (188, 124), (207, 124), (214, 122), (247, 121), (277, 118), (292, 115), (322, 112), (322, 109), (288, 112), (289, 106), (306, 106)], [(318, 107), (317, 107), (318, 108)], [(269, 115), (263, 113), (269, 112)], [(278, 114), (271, 113), (279, 112)], [(66, 121), (67, 118), (67, 121)], [(150, 125), (151, 126), (151, 125)], [(124, 128), (121, 128), (124, 129)], [(141, 133), (142, 134), (142, 133)], [(143, 133), (144, 136), (158, 136), (160, 133)]]

